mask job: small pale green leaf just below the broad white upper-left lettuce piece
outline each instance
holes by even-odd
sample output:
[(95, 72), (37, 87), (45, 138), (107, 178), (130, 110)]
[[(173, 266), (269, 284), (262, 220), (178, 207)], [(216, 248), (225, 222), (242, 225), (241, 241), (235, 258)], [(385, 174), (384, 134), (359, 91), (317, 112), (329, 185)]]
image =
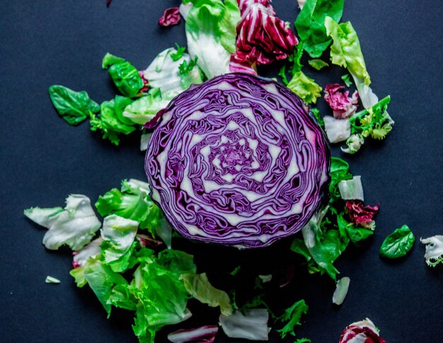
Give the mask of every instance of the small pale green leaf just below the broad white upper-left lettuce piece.
[(160, 89), (151, 88), (148, 94), (127, 106), (123, 116), (131, 120), (132, 123), (144, 125), (154, 118), (157, 112), (168, 106), (171, 99), (170, 97), (164, 97)]

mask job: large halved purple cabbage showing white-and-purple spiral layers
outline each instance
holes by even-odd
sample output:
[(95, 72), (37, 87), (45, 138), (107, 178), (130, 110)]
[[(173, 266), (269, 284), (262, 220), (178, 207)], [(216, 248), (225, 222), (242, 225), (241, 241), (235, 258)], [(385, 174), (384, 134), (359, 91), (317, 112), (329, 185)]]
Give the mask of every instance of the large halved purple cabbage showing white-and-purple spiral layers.
[(270, 79), (225, 74), (159, 114), (146, 152), (151, 196), (181, 235), (265, 247), (301, 230), (330, 180), (323, 131)]

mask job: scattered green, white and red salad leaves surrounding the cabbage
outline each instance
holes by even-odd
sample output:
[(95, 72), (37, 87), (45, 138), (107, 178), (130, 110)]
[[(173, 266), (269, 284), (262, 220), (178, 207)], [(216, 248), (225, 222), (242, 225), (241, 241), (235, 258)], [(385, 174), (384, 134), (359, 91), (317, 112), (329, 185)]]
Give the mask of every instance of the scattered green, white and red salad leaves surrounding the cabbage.
[[(299, 1), (299, 6), (294, 33), (270, 0), (183, 0), (179, 8), (164, 11), (159, 25), (173, 26), (183, 18), (187, 47), (176, 45), (160, 52), (144, 70), (106, 54), (102, 67), (118, 92), (109, 101), (99, 104), (86, 91), (59, 85), (50, 87), (50, 99), (69, 125), (89, 119), (91, 130), (113, 145), (119, 145), (124, 135), (139, 134), (141, 150), (146, 150), (163, 108), (193, 85), (235, 72), (256, 75), (260, 65), (284, 61), (278, 73), (282, 83), (311, 106), (330, 143), (345, 142), (343, 152), (355, 154), (369, 137), (381, 140), (392, 130), (394, 122), (387, 112), (391, 98), (384, 95), (379, 100), (371, 89), (357, 33), (349, 21), (340, 23), (344, 1), (306, 0)], [(345, 86), (334, 83), (323, 89), (306, 74), (302, 58), (317, 70), (330, 64), (343, 67)], [(322, 95), (332, 116), (321, 116), (313, 107)], [(328, 201), (290, 246), (304, 259), (309, 273), (326, 274), (337, 282), (333, 294), (337, 305), (345, 300), (350, 279), (338, 279), (335, 260), (350, 245), (359, 247), (376, 229), (379, 205), (364, 203), (362, 184), (361, 176), (352, 175), (345, 160), (332, 157)], [(235, 289), (214, 286), (205, 271), (197, 271), (192, 255), (173, 248), (177, 234), (151, 198), (152, 191), (144, 181), (123, 180), (120, 189), (111, 189), (93, 205), (87, 196), (71, 194), (64, 207), (29, 208), (25, 215), (47, 228), (43, 238), (47, 249), (66, 245), (73, 250), (71, 276), (77, 286), (92, 289), (108, 316), (114, 307), (134, 313), (132, 328), (140, 342), (154, 342), (163, 327), (187, 320), (192, 315), (191, 298), (218, 308), (219, 322), (170, 332), (171, 342), (214, 342), (219, 327), (235, 338), (266, 340), (270, 330), (282, 339), (296, 336), (308, 304), (300, 299), (282, 313), (274, 313), (263, 294), (238, 303)], [(386, 237), (380, 255), (403, 257), (414, 241), (403, 225)], [(443, 262), (442, 236), (421, 241), (426, 244), (427, 264)], [(258, 275), (255, 288), (263, 288), (271, 279), (272, 275)], [(59, 280), (47, 276), (46, 282)], [(289, 282), (290, 277), (280, 286)], [(348, 325), (340, 342), (356, 339), (385, 342), (369, 319)], [(296, 342), (311, 341), (298, 338)]]

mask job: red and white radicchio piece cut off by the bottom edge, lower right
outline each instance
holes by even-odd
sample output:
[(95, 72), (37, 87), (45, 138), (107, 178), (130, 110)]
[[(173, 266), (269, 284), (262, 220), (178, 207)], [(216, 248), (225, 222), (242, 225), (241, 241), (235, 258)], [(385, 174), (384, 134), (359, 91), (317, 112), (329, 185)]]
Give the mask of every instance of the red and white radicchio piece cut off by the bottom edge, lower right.
[(379, 330), (377, 330), (376, 326), (369, 318), (359, 322), (353, 322), (351, 325), (345, 327), (338, 343), (347, 342), (386, 343), (386, 341), (380, 337)]

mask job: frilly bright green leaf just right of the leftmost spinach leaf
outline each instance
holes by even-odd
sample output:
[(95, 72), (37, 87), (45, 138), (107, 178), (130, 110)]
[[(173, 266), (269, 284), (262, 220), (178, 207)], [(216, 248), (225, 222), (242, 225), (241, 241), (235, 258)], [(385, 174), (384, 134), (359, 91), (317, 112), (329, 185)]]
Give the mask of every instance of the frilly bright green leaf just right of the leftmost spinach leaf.
[[(122, 104), (121, 99), (119, 101), (119, 106)], [(118, 111), (121, 107), (118, 108)], [(117, 114), (115, 108), (115, 100), (103, 101), (100, 106), (100, 116), (91, 115), (91, 130), (100, 130), (103, 139), (108, 139), (114, 145), (119, 145), (120, 138), (118, 137), (120, 133), (123, 135), (129, 135), (134, 132), (135, 127), (133, 124), (128, 125), (127, 120), (122, 122), (120, 116)]]

